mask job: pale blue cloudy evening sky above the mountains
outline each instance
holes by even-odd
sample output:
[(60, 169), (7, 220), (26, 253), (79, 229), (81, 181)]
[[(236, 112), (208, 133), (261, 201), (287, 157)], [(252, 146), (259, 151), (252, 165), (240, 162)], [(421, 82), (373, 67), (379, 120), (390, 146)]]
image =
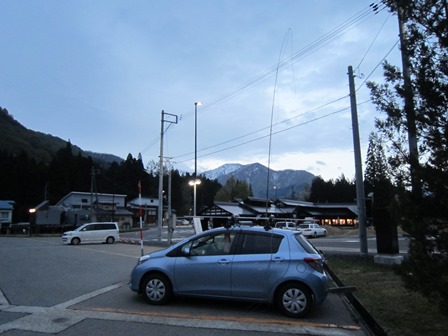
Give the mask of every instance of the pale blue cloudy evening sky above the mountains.
[(181, 171), (196, 156), (198, 174), (258, 162), (353, 179), (348, 67), (365, 162), (381, 117), (366, 82), (384, 81), (384, 59), (401, 64), (397, 18), (372, 2), (0, 0), (0, 106), (145, 165), (163, 133)]

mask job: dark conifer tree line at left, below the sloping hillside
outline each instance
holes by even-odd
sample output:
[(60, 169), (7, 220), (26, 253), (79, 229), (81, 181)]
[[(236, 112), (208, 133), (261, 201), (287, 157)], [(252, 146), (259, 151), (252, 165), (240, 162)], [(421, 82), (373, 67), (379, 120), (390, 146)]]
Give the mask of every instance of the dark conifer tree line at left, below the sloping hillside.
[[(0, 151), (0, 199), (15, 202), (13, 222), (27, 222), (29, 209), (43, 201), (56, 204), (72, 191), (99, 192), (126, 195), (126, 200), (139, 196), (138, 183), (141, 183), (143, 197), (158, 198), (158, 171), (145, 168), (142, 157), (129, 154), (122, 162), (105, 165), (94, 162), (90, 156), (74, 154), (72, 145), (56, 152), (49, 164), (37, 162), (27, 152), (11, 154)], [(181, 215), (188, 215), (192, 208), (192, 180), (189, 173), (181, 175), (171, 170), (172, 207)], [(197, 191), (198, 206), (206, 207), (213, 203), (214, 195), (221, 184), (201, 177), (201, 188)], [(164, 177), (164, 197), (168, 190), (168, 177)]]

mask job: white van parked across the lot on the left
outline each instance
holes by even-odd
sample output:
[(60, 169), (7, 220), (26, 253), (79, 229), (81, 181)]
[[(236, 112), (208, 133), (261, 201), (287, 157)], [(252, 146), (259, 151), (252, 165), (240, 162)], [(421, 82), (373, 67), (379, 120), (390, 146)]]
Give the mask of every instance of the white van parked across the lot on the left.
[(117, 223), (95, 222), (81, 225), (73, 231), (64, 232), (62, 242), (64, 244), (78, 245), (81, 243), (106, 243), (113, 244), (120, 238)]

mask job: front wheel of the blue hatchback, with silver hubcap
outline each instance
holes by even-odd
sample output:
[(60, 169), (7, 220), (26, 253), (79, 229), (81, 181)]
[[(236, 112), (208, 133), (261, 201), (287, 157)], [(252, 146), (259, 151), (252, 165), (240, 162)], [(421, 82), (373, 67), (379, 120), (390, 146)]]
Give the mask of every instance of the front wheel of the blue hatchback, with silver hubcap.
[(150, 274), (143, 281), (143, 294), (150, 304), (160, 306), (171, 300), (173, 290), (167, 277)]

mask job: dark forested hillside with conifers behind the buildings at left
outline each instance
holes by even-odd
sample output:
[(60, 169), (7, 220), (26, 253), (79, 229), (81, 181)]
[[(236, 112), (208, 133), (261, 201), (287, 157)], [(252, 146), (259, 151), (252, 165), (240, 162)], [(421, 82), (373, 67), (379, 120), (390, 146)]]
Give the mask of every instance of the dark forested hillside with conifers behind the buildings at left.
[[(140, 155), (114, 161), (113, 155), (83, 152), (70, 142), (23, 127), (3, 108), (0, 127), (0, 199), (15, 202), (14, 222), (28, 221), (28, 210), (44, 200), (55, 204), (72, 191), (90, 192), (92, 187), (132, 199), (138, 196), (140, 180), (143, 196), (157, 197), (158, 172), (145, 169)], [(188, 214), (192, 206), (190, 179), (189, 174), (172, 172), (171, 200), (178, 214)], [(198, 190), (199, 208), (208, 205), (207, 200), (213, 202), (220, 187), (204, 180)]]

